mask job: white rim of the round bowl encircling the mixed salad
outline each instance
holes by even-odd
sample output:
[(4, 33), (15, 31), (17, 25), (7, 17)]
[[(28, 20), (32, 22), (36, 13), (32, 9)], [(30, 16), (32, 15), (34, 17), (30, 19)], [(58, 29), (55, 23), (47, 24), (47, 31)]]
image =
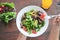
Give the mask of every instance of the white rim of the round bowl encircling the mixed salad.
[[(45, 25), (37, 32), (37, 34), (28, 34), (28, 32), (25, 32), (22, 28), (21, 28), (21, 18), (22, 16), (24, 15), (25, 12), (31, 10), (31, 9), (34, 9), (34, 10), (37, 10), (37, 11), (42, 11), (43, 13), (46, 14), (45, 16)], [(42, 35), (46, 29), (48, 28), (48, 24), (49, 24), (49, 20), (48, 20), (48, 15), (47, 13), (41, 8), (41, 7), (38, 7), (38, 6), (34, 6), (34, 5), (30, 5), (30, 6), (27, 6), (27, 7), (24, 7), (23, 9), (21, 9), (17, 15), (17, 18), (16, 18), (16, 25), (17, 25), (17, 28), (18, 30), (25, 36), (28, 36), (28, 37), (37, 37), (37, 36), (40, 36)]]

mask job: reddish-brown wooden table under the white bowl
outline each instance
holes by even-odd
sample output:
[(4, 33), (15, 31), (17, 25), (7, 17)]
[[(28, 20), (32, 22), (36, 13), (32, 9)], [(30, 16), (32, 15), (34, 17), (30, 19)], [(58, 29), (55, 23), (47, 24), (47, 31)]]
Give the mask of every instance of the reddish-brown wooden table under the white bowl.
[[(57, 14), (56, 5), (58, 1), (59, 0), (53, 0), (52, 6), (48, 10), (45, 10), (48, 15)], [(25, 6), (28, 5), (41, 6), (41, 0), (0, 0), (0, 2), (14, 2), (17, 14)], [(51, 27), (52, 27), (52, 19), (50, 20), (48, 29), (43, 35), (35, 38), (30, 38), (22, 35), (18, 31), (16, 27), (15, 19), (10, 21), (8, 24), (4, 24), (0, 22), (0, 40), (25, 40), (25, 39), (26, 40), (47, 40)]]

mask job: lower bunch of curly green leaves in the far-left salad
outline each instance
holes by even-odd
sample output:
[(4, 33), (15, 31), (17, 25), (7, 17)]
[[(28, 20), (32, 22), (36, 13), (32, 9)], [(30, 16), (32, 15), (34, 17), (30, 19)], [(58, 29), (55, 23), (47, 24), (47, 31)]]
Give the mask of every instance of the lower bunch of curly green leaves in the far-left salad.
[(15, 18), (16, 12), (7, 12), (0, 14), (0, 20), (8, 23), (11, 19)]

